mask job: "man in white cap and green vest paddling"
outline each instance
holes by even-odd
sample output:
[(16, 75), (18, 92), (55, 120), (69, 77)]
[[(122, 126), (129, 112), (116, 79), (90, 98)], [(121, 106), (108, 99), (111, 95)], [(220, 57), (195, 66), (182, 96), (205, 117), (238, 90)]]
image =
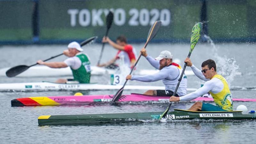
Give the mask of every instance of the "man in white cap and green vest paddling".
[[(90, 59), (86, 54), (81, 53), (83, 49), (77, 42), (68, 44), (68, 50), (63, 52), (69, 58), (63, 62), (44, 62), (38, 60), (37, 63), (51, 68), (66, 68), (70, 67), (74, 79), (77, 83), (90, 83), (91, 67)], [(58, 79), (56, 83), (67, 83), (67, 79)]]

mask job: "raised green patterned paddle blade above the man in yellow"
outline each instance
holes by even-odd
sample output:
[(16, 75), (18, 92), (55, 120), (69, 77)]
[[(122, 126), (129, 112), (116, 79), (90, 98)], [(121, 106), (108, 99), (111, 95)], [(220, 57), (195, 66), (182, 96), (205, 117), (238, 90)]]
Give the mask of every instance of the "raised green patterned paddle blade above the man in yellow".
[(198, 42), (199, 38), (201, 37), (202, 32), (202, 22), (198, 22), (194, 25), (191, 32), (191, 38), (190, 38), (190, 53), (194, 50), (196, 43)]

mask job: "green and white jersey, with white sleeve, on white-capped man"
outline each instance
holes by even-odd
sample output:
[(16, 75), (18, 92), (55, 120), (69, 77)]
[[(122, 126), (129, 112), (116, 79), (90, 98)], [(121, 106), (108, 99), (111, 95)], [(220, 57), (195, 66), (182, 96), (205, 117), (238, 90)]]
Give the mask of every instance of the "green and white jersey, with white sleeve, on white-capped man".
[(86, 54), (77, 53), (64, 61), (72, 70), (74, 80), (79, 83), (90, 83), (91, 67), (90, 59)]

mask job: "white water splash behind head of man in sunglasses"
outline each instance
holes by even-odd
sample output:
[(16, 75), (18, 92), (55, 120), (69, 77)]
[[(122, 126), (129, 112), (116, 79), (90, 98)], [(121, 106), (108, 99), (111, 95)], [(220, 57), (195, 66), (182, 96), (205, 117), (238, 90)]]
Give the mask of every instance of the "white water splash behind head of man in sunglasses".
[(218, 74), (224, 76), (228, 84), (231, 84), (237, 75), (241, 75), (241, 72), (238, 71), (239, 66), (236, 64), (235, 58), (228, 58), (226, 55), (224, 57), (220, 57), (210, 36), (204, 35), (204, 38), (207, 40), (207, 43), (210, 43), (212, 46), (212, 53), (217, 64)]

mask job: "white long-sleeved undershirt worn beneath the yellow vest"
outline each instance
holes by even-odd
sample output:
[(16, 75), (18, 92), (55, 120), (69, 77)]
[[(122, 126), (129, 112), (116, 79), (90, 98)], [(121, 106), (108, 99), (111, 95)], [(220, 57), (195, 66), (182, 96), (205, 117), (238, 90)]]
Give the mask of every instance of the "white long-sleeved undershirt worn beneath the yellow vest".
[(220, 81), (220, 79), (212, 78), (210, 80), (210, 79), (205, 78), (204, 75), (202, 74), (202, 72), (198, 68), (196, 68), (194, 65), (191, 66), (191, 69), (193, 70), (193, 72), (195, 73), (195, 75), (198, 78), (200, 78), (204, 81), (207, 81), (207, 82), (205, 82), (204, 86), (199, 88), (195, 92), (191, 92), (187, 95), (180, 97), (180, 101), (194, 100), (197, 97), (199, 97), (207, 92), (211, 91), (212, 93), (219, 93), (223, 90), (224, 84)]

